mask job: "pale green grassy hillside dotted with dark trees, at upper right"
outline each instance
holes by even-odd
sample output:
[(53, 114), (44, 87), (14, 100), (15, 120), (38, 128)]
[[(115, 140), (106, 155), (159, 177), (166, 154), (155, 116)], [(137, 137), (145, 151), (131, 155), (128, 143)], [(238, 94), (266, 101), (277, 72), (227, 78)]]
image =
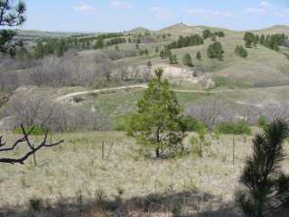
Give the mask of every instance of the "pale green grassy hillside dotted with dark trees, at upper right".
[[(245, 45), (243, 40), (245, 32), (234, 32), (219, 28), (207, 27), (207, 26), (188, 26), (185, 24), (176, 24), (160, 30), (155, 33), (172, 33), (173, 38), (178, 38), (180, 35), (191, 35), (193, 33), (201, 34), (203, 30), (210, 29), (213, 31), (224, 31), (226, 36), (224, 38), (217, 38), (218, 42), (223, 45), (225, 55), (223, 61), (211, 60), (207, 57), (208, 46), (212, 43), (210, 39), (207, 39), (203, 45), (187, 47), (182, 49), (172, 50), (173, 54), (176, 54), (178, 60), (182, 62), (182, 56), (184, 53), (190, 53), (193, 58), (193, 64), (196, 66), (194, 69), (198, 69), (206, 72), (210, 77), (218, 80), (226, 80), (228, 87), (233, 88), (246, 88), (246, 87), (267, 87), (289, 84), (289, 67), (288, 55), (286, 48), (281, 52), (275, 52), (267, 49), (264, 46), (258, 45), (256, 48), (247, 49), (247, 59), (238, 57), (235, 54), (237, 45)], [(289, 33), (288, 26), (274, 26), (265, 30), (256, 30), (254, 33)], [(172, 42), (171, 40), (171, 42)], [(169, 41), (170, 42), (170, 41)], [(150, 55), (142, 58), (127, 58), (121, 60), (126, 64), (144, 64), (146, 59), (150, 59), (153, 64), (168, 63), (167, 60), (161, 60), (158, 53), (154, 50), (156, 47), (162, 49), (163, 45), (169, 42), (158, 42), (152, 44), (141, 44), (142, 49), (148, 49)], [(120, 49), (126, 50), (134, 48), (134, 44), (119, 45)], [(202, 60), (197, 61), (196, 53), (200, 52)], [(178, 64), (177, 67), (183, 68), (182, 64)]]

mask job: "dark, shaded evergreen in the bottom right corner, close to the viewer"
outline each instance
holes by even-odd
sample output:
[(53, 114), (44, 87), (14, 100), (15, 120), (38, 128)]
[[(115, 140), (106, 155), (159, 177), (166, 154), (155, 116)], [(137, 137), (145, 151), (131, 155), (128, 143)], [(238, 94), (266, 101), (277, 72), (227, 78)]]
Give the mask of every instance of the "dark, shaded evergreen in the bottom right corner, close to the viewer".
[(289, 208), (289, 176), (282, 171), (288, 137), (288, 123), (276, 119), (253, 139), (253, 156), (247, 159), (240, 177), (246, 190), (237, 193), (246, 216), (263, 217), (272, 210)]

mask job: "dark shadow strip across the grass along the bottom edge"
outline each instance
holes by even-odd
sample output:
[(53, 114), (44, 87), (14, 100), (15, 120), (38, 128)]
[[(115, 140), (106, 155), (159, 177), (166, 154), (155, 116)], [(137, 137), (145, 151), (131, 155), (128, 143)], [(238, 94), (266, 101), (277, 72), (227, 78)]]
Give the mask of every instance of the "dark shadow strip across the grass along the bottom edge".
[(57, 203), (32, 199), (27, 207), (0, 208), (0, 217), (189, 217), (241, 216), (233, 204), (198, 191), (157, 193), (145, 197), (123, 199), (121, 193), (107, 199), (98, 191), (93, 199), (81, 194), (75, 198), (60, 198)]

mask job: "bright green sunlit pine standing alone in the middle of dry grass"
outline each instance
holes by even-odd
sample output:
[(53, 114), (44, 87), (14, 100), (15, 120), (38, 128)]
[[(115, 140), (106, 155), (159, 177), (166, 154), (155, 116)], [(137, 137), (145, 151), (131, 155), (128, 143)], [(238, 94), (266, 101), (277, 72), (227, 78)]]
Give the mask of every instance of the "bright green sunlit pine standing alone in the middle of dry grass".
[(137, 112), (127, 124), (128, 135), (146, 148), (153, 147), (157, 158), (163, 157), (166, 151), (182, 154), (186, 130), (181, 106), (162, 75), (163, 69), (155, 71), (155, 78), (149, 82), (143, 98), (137, 102)]

